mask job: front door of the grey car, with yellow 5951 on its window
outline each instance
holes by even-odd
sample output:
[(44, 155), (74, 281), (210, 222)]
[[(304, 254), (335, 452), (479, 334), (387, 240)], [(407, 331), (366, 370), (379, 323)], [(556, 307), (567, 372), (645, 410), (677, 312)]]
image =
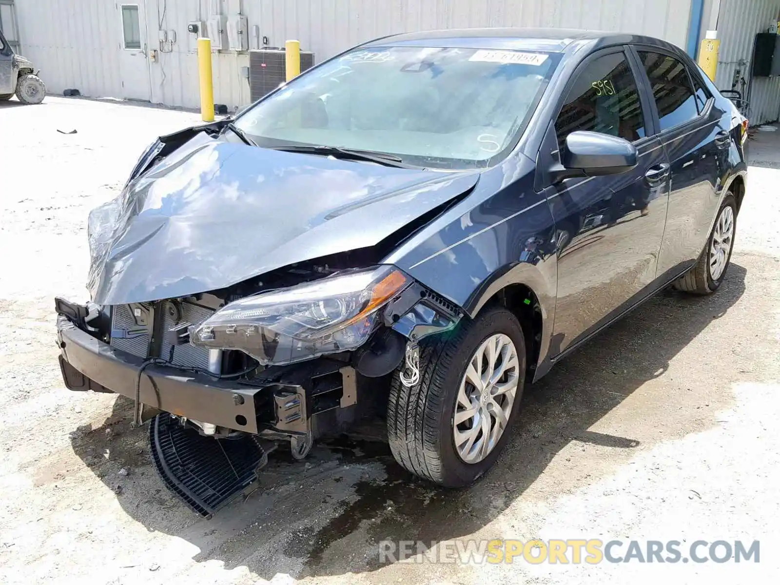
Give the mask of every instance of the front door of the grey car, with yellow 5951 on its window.
[[(639, 151), (633, 170), (566, 179), (545, 191), (555, 218), (558, 300), (551, 355), (586, 338), (649, 292), (665, 229), (668, 164), (654, 137), (651, 102), (624, 48), (591, 55), (576, 70), (555, 122), (555, 139), (590, 130), (622, 137)], [(552, 142), (552, 144), (550, 144)], [(540, 161), (544, 165), (544, 161)]]

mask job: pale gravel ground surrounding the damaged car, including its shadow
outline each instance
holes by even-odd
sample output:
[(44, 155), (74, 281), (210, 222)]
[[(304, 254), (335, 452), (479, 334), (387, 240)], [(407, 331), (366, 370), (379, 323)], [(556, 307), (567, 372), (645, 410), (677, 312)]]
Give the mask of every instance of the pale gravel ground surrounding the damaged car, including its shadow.
[[(527, 390), (479, 484), (438, 491), (381, 446), (317, 446), (306, 464), (275, 457), (259, 489), (207, 521), (155, 477), (129, 401), (63, 388), (52, 313), (55, 295), (87, 296), (87, 212), (154, 137), (196, 121), (57, 97), (0, 104), (0, 582), (776, 582), (780, 132), (751, 144), (718, 294), (661, 293), (564, 360)], [(383, 539), (534, 537), (760, 540), (762, 555), (477, 566), (377, 554)]]

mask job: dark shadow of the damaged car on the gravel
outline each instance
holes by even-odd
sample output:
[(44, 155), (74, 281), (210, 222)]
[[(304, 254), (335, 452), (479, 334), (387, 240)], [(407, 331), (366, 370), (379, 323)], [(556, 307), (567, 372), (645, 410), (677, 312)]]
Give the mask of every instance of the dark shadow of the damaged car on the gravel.
[[(562, 360), (527, 388), (505, 452), (469, 489), (438, 489), (411, 477), (384, 444), (342, 442), (315, 449), (307, 464), (272, 455), (255, 493), (232, 502), (211, 520), (197, 519), (151, 477), (144, 448), (147, 429), (130, 428), (132, 402), (122, 397), (101, 427), (73, 432), (73, 450), (116, 491), (115, 474), (101, 473), (94, 454), (101, 452), (107, 435), (123, 434), (124, 446), (113, 439), (114, 457), (139, 466), (146, 478), (138, 478), (144, 484), (139, 491), (145, 491), (140, 497), (129, 498), (126, 491), (117, 496), (119, 503), (148, 530), (195, 544), (200, 549), (197, 562), (217, 559), (225, 569), (248, 566), (266, 579), (276, 573), (302, 578), (372, 571), (383, 566), (380, 541), (445, 541), (480, 530), (523, 495), (572, 441), (636, 448), (636, 438), (589, 429), (636, 388), (663, 374), (672, 358), (722, 317), (743, 295), (745, 275), (745, 268), (732, 264), (713, 296), (666, 289)], [(637, 412), (636, 417), (654, 414)], [(571, 480), (559, 489), (581, 488), (587, 482)], [(317, 522), (330, 516), (324, 525)], [(285, 565), (289, 558), (296, 562)]]

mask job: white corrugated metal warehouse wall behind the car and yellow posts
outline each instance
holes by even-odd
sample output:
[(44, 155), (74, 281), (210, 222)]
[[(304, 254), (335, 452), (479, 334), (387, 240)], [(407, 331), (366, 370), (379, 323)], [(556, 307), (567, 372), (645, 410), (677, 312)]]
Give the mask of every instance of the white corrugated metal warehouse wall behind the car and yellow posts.
[[(158, 27), (177, 34), (172, 51), (150, 64), (151, 101), (196, 107), (197, 58), (186, 25), (217, 10), (240, 11), (271, 46), (297, 38), (321, 62), (374, 37), (455, 27), (622, 30), (684, 47), (691, 0), (16, 0), (23, 52), (53, 91), (76, 87), (84, 95), (121, 97), (117, 6), (136, 2), (146, 7), (150, 48), (158, 48)], [(246, 65), (246, 53), (215, 56), (215, 101), (233, 108), (249, 100), (239, 77)]]

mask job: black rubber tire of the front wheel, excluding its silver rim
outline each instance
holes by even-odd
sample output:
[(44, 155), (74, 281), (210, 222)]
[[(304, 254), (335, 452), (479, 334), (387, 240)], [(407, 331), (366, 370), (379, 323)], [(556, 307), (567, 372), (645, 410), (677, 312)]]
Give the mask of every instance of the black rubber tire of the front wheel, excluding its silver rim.
[[(519, 358), (515, 401), (495, 448), (478, 463), (465, 463), (456, 452), (453, 414), (466, 366), (485, 339), (507, 335)], [(395, 460), (420, 477), (447, 488), (462, 488), (481, 477), (498, 459), (512, 434), (523, 395), (526, 348), (517, 317), (504, 307), (491, 307), (473, 321), (461, 321), (450, 335), (420, 343), (420, 381), (407, 388), (396, 371), (388, 401), (388, 441)]]

